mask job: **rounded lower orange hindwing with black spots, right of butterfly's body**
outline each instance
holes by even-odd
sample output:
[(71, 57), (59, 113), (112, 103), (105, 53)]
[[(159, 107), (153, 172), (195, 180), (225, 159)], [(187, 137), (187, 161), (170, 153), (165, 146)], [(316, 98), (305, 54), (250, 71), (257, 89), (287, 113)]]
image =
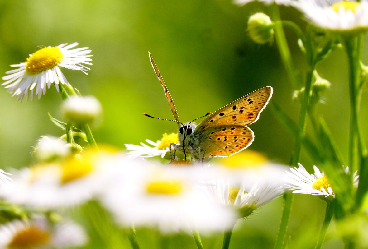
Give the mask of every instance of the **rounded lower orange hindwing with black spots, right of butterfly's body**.
[(247, 126), (219, 125), (205, 130), (198, 137), (205, 156), (230, 156), (247, 148), (253, 141), (253, 131)]

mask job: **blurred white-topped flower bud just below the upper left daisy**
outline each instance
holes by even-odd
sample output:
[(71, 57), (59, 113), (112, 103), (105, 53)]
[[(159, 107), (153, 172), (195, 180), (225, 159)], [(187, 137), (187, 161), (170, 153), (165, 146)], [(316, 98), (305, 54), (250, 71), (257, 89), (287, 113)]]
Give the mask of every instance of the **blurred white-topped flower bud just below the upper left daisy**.
[(101, 114), (102, 107), (93, 96), (71, 96), (64, 101), (61, 110), (69, 121), (84, 126)]

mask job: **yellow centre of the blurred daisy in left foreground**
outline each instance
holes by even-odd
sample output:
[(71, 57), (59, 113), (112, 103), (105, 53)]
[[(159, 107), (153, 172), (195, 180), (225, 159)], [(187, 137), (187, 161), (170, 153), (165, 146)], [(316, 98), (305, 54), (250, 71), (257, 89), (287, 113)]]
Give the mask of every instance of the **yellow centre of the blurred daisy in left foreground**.
[(66, 184), (82, 178), (91, 173), (93, 169), (93, 161), (89, 160), (89, 158), (67, 160), (61, 166), (61, 183)]

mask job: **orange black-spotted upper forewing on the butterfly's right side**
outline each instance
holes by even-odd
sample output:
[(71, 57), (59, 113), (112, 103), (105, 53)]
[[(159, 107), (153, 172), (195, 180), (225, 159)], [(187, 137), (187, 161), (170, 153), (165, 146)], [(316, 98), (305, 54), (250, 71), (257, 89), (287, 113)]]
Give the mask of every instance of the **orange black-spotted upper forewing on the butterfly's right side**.
[(218, 125), (250, 125), (257, 121), (272, 96), (272, 87), (263, 87), (213, 112), (197, 127), (199, 134)]

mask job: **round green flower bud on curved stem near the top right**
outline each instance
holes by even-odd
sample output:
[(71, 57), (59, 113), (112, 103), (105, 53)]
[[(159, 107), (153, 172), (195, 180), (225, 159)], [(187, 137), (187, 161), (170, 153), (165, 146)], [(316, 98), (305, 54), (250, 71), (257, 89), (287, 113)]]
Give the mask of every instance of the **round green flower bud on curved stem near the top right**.
[(268, 15), (259, 12), (248, 19), (248, 32), (251, 39), (258, 44), (272, 43), (273, 22)]

